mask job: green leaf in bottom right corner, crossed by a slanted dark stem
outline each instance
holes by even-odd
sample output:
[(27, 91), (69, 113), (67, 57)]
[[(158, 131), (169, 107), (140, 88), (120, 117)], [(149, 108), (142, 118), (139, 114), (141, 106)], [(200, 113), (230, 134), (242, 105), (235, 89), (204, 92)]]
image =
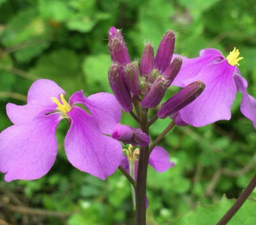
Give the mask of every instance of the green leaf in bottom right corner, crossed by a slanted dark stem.
[[(234, 199), (222, 198), (218, 203), (213, 205), (199, 205), (195, 210), (180, 216), (175, 221), (170, 222), (172, 225), (209, 225), (216, 224), (227, 210), (234, 203)], [(256, 202), (250, 199), (246, 200), (240, 210), (228, 222), (228, 225), (248, 225), (255, 224)]]

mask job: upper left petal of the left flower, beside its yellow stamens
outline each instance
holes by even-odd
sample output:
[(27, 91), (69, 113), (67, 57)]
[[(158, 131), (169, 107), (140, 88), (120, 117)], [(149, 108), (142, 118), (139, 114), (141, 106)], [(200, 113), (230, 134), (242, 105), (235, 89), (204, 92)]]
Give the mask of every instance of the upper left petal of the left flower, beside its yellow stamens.
[(38, 104), (45, 107), (56, 107), (51, 97), (58, 98), (60, 94), (65, 94), (56, 82), (48, 79), (39, 79), (31, 85), (28, 91), (28, 104)]

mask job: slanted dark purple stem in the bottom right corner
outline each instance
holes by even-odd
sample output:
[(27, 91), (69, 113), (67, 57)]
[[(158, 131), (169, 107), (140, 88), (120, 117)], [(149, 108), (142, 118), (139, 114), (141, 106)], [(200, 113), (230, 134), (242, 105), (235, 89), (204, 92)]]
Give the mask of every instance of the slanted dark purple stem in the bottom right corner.
[(256, 187), (256, 175), (253, 176), (251, 182), (248, 184), (246, 189), (243, 190), (242, 194), (236, 200), (234, 205), (228, 210), (227, 213), (220, 219), (220, 221), (216, 225), (225, 225), (230, 219), (236, 214), (237, 210), (243, 205), (244, 201), (250, 196), (253, 189)]

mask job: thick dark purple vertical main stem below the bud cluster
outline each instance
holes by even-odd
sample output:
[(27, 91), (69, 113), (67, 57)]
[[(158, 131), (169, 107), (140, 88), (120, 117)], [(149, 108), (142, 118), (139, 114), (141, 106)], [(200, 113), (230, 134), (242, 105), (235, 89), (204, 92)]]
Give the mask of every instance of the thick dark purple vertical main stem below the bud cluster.
[[(141, 110), (140, 128), (148, 134), (147, 111)], [(136, 185), (136, 225), (146, 225), (146, 187), (149, 151), (148, 146), (140, 148)]]

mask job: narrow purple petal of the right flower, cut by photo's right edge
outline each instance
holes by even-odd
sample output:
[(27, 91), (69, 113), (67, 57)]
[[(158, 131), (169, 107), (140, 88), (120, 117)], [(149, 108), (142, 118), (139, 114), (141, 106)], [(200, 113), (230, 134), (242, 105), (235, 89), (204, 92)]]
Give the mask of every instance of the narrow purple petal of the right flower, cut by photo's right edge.
[(253, 127), (256, 129), (256, 99), (247, 93), (247, 81), (238, 73), (234, 73), (237, 90), (243, 93), (243, 98), (240, 106), (241, 113), (252, 120)]

